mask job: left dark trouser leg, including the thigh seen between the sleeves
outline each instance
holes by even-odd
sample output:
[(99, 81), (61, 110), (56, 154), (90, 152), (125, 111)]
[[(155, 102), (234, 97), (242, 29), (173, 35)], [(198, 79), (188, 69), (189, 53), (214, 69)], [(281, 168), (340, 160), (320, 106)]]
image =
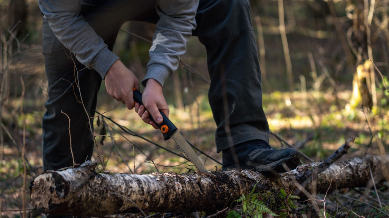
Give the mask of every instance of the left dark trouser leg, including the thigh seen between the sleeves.
[[(86, 0), (83, 3), (81, 13), (111, 50), (125, 21), (155, 22), (158, 19), (155, 1), (107, 0), (96, 5)], [(94, 140), (88, 117), (94, 114), (102, 78), (71, 55), (46, 20), (43, 21), (42, 36), (49, 97), (42, 118), (43, 170), (46, 171), (72, 166), (73, 157), (76, 163), (91, 159)]]

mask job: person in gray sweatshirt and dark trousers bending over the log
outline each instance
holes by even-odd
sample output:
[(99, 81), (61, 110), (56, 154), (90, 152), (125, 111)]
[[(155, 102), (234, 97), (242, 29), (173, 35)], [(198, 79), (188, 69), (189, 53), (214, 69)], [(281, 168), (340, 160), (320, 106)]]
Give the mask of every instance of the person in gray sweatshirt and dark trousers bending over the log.
[[(76, 163), (91, 159), (94, 142), (86, 112), (94, 115), (103, 80), (110, 96), (128, 109), (135, 108), (144, 122), (156, 128), (150, 115), (158, 123), (162, 122), (159, 110), (169, 115), (162, 88), (178, 68), (191, 35), (206, 48), (208, 97), (223, 169), (284, 172), (299, 164), (296, 150), (277, 150), (268, 144), (248, 0), (38, 0), (38, 4), (44, 17), (48, 81), (42, 118), (44, 171), (72, 166), (73, 157)], [(120, 27), (129, 20), (156, 24), (141, 83), (112, 52)], [(133, 100), (132, 89), (140, 84), (144, 106)]]

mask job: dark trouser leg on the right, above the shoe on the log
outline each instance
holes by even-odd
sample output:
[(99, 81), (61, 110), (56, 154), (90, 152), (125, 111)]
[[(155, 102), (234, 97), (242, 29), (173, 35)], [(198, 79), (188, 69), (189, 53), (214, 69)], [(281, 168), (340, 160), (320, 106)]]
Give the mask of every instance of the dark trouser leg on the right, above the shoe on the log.
[(217, 151), (269, 139), (248, 0), (200, 0), (194, 35), (205, 45)]

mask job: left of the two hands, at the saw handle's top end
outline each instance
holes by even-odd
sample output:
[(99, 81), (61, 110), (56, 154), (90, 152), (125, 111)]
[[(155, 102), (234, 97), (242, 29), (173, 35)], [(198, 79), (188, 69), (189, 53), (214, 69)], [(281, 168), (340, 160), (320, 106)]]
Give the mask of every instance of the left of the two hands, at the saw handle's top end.
[(115, 61), (105, 75), (107, 93), (128, 109), (134, 108), (132, 89), (139, 89), (139, 80), (120, 60)]

